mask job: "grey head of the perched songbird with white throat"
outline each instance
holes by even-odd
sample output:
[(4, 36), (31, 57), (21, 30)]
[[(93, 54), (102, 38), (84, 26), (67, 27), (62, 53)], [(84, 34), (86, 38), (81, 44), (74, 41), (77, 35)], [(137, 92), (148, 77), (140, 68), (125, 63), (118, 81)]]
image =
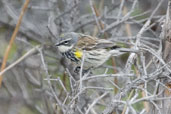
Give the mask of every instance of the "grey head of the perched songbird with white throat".
[(79, 34), (75, 32), (69, 32), (61, 34), (59, 37), (59, 42), (55, 45), (58, 47), (61, 53), (65, 53), (71, 50), (74, 45), (77, 43)]

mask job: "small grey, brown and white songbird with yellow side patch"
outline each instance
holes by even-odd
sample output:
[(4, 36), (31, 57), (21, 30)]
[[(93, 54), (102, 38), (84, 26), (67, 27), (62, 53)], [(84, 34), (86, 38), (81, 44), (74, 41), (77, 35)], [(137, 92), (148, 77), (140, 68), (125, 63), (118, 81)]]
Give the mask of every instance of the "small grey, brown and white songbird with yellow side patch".
[(120, 48), (113, 41), (75, 32), (62, 34), (56, 46), (63, 56), (77, 63), (78, 66), (84, 59), (84, 69), (97, 68), (111, 56), (130, 51), (127, 48)]

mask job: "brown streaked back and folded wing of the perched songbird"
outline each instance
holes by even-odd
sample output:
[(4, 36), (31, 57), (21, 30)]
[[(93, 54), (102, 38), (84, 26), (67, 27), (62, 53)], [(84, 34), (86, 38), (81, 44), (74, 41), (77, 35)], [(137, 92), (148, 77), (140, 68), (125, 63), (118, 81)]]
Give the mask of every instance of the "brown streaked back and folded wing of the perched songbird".
[(76, 48), (83, 50), (100, 49), (100, 48), (118, 48), (118, 46), (109, 40), (99, 39), (89, 35), (80, 34)]

